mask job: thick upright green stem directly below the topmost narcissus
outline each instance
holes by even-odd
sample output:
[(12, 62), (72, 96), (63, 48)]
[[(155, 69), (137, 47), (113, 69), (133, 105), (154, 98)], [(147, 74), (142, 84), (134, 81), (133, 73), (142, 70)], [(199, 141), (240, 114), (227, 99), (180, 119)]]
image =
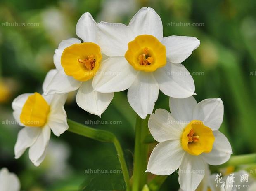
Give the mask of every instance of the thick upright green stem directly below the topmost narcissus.
[(132, 191), (141, 191), (147, 183), (145, 170), (147, 170), (148, 146), (144, 143), (145, 137), (148, 135), (147, 121), (148, 117), (145, 120), (139, 116), (136, 118)]

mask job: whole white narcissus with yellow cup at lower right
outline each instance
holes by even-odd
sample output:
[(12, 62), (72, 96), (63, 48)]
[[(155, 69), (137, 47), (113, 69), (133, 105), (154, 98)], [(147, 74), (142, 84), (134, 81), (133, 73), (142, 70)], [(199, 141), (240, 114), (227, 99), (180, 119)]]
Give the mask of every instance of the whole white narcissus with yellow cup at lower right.
[(156, 109), (149, 118), (149, 130), (160, 143), (152, 151), (147, 172), (170, 175), (179, 168), (181, 189), (194, 191), (204, 178), (206, 164), (223, 164), (232, 154), (228, 139), (218, 131), (223, 102), (170, 98), (170, 108), (171, 114)]

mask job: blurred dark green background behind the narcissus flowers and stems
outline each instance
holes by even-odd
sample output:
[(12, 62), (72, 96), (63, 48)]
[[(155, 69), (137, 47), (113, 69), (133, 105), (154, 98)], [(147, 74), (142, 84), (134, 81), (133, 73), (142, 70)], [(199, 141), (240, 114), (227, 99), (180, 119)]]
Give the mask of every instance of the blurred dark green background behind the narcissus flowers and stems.
[[(120, 169), (114, 146), (70, 132), (52, 135), (40, 167), (32, 165), (28, 152), (15, 160), (14, 144), (20, 127), (14, 123), (11, 102), (21, 93), (42, 91), (47, 71), (54, 68), (54, 50), (62, 40), (76, 37), (76, 22), (84, 12), (90, 12), (97, 22), (128, 24), (143, 6), (153, 7), (160, 15), (164, 36), (194, 36), (201, 41), (183, 62), (194, 78), (195, 98), (198, 102), (222, 98), (225, 113), (220, 130), (230, 140), (234, 154), (256, 151), (255, 0), (1, 0), (0, 168), (15, 172), (22, 190), (103, 190), (110, 183), (116, 190), (124, 188), (121, 174), (85, 173), (88, 169)], [(10, 26), (15, 23), (34, 26)], [(76, 93), (69, 94), (66, 111), (70, 119), (115, 133), (131, 175), (136, 114), (126, 93), (115, 93), (101, 119), (76, 105)], [(168, 97), (163, 93), (159, 93), (157, 108), (169, 110)], [(160, 190), (178, 187), (178, 175), (174, 174)]]

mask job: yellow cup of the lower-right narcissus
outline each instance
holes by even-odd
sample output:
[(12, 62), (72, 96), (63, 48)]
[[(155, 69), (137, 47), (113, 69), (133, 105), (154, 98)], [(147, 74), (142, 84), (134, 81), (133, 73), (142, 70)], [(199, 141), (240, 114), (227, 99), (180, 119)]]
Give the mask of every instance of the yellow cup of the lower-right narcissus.
[(205, 126), (202, 121), (192, 120), (183, 131), (181, 144), (189, 154), (199, 155), (211, 152), (214, 140), (211, 128)]

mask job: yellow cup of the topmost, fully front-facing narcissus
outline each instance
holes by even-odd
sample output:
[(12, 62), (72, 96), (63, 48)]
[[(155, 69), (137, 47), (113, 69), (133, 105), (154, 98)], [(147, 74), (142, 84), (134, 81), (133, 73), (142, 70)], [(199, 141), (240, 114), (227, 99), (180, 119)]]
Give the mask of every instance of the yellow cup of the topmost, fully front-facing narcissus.
[(154, 72), (166, 65), (166, 48), (152, 35), (139, 35), (128, 43), (125, 58), (135, 70)]

